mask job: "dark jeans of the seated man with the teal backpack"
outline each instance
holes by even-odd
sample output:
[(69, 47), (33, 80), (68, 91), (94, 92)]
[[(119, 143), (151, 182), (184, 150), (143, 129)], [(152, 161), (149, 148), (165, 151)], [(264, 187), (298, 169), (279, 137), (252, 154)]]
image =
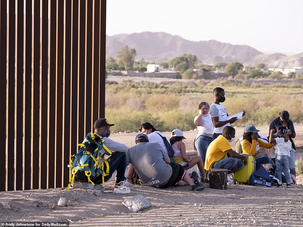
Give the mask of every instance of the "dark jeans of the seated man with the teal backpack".
[[(115, 172), (115, 170), (117, 170), (116, 173), (116, 183), (119, 183), (121, 181), (124, 181), (124, 174), (125, 174), (125, 169), (126, 169), (126, 154), (124, 152), (115, 152), (113, 155), (111, 155), (107, 161), (108, 161), (108, 165), (109, 165), (109, 175), (108, 176), (104, 176), (104, 181), (108, 181), (113, 173)], [(98, 178), (96, 178), (95, 182), (97, 182), (97, 184), (101, 184), (102, 183), (102, 176), (98, 176)]]

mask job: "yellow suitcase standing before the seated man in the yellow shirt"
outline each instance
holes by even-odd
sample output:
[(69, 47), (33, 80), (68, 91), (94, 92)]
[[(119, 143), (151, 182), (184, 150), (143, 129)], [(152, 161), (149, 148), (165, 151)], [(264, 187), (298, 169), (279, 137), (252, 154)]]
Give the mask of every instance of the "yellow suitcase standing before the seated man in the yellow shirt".
[(244, 155), (246, 157), (247, 164), (244, 165), (242, 170), (234, 173), (234, 184), (236, 184), (236, 182), (248, 184), (249, 177), (256, 171), (256, 159), (254, 158), (254, 156), (249, 154), (241, 155)]

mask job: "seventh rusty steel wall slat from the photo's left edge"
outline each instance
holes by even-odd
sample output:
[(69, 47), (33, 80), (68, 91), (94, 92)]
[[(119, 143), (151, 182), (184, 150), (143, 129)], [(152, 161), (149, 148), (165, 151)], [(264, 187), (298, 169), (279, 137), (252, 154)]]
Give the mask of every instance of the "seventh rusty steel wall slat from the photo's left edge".
[(55, 186), (55, 105), (56, 105), (56, 18), (57, 3), (50, 1), (49, 19), (49, 81), (48, 81), (48, 188)]

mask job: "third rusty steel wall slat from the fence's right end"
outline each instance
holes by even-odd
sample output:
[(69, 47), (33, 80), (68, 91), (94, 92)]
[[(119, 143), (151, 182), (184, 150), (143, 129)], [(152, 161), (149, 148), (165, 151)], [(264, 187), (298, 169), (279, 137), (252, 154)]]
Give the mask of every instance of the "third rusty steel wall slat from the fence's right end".
[(92, 105), (92, 22), (93, 22), (93, 0), (86, 2), (86, 43), (85, 43), (85, 123), (84, 132), (85, 134), (91, 132), (91, 105)]

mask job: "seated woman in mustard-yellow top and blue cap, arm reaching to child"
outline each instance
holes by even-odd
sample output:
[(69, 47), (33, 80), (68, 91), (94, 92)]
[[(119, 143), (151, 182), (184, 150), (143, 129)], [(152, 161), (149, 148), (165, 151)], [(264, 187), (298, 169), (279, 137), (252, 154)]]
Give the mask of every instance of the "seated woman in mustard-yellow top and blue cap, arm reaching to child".
[[(260, 132), (260, 130), (257, 130), (253, 125), (245, 126), (242, 142), (243, 154), (250, 154), (256, 157), (256, 155), (260, 153), (261, 148), (270, 149), (273, 147), (273, 144), (265, 143), (262, 140), (258, 139), (258, 132)], [(270, 163), (267, 156), (256, 159), (257, 169), (260, 167), (260, 165), (267, 163)]]

